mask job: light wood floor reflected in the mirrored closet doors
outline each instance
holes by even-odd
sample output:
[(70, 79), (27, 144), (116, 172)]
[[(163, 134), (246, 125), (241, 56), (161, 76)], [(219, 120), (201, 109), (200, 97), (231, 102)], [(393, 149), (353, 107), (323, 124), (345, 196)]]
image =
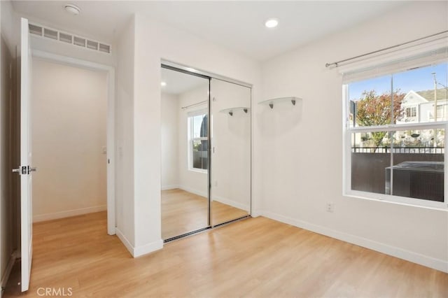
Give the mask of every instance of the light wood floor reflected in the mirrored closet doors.
[[(162, 190), (162, 239), (193, 232), (208, 226), (207, 198), (185, 190)], [(211, 202), (211, 222), (218, 225), (248, 213), (239, 208)]]

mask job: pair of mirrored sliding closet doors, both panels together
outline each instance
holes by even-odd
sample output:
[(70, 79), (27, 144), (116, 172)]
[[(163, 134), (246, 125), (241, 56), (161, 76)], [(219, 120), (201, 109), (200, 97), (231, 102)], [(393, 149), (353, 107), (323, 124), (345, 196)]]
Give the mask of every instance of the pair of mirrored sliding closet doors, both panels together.
[(162, 65), (162, 239), (251, 212), (251, 88)]

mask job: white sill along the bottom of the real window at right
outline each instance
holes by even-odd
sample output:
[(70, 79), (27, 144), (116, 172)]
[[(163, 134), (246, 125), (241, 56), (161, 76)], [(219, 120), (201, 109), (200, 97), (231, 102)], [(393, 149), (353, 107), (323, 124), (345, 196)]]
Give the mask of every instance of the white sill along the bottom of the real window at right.
[(439, 201), (425, 201), (421, 199), (412, 199), (407, 197), (397, 197), (387, 194), (370, 194), (367, 192), (350, 191), (343, 192), (344, 197), (355, 199), (366, 199), (369, 201), (380, 201), (381, 203), (395, 204), (401, 206), (410, 206), (417, 208), (426, 208), (437, 211), (448, 212), (448, 203)]

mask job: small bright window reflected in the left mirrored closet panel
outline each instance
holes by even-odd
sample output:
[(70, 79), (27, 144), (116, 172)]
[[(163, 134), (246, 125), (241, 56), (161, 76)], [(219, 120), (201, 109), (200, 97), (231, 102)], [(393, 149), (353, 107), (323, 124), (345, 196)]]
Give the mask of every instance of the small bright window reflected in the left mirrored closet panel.
[(208, 116), (207, 111), (197, 111), (188, 116), (189, 168), (207, 171), (208, 159)]

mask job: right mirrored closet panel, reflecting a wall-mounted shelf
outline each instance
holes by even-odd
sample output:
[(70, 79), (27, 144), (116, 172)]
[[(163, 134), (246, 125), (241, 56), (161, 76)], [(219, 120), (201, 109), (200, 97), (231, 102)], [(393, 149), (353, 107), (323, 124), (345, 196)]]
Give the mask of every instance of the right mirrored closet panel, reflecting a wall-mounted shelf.
[(211, 79), (211, 223), (251, 212), (251, 89)]

